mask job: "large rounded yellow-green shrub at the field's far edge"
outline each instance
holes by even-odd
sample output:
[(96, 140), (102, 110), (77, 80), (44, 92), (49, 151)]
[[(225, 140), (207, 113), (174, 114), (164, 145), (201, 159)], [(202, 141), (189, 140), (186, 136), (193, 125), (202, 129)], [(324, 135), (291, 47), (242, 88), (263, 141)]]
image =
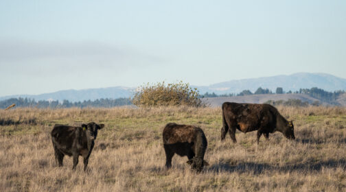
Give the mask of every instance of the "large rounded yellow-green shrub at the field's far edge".
[(205, 106), (198, 98), (197, 88), (191, 88), (183, 82), (143, 85), (138, 88), (132, 103), (136, 106)]

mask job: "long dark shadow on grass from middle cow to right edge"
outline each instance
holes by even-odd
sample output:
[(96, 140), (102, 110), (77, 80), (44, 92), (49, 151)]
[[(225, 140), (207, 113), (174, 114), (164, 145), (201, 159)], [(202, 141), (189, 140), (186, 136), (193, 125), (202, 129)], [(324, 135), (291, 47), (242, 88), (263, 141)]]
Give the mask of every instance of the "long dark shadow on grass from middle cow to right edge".
[(229, 165), (227, 163), (216, 163), (207, 167), (206, 171), (213, 172), (222, 172), (227, 171), (229, 173), (237, 172), (237, 173), (252, 173), (255, 175), (259, 175), (264, 173), (265, 171), (280, 171), (280, 172), (288, 172), (288, 171), (321, 171), (322, 167), (325, 168), (337, 168), (341, 167), (346, 171), (346, 160), (327, 160), (316, 162), (314, 160), (310, 160), (305, 163), (298, 163), (295, 165), (270, 165), (268, 163), (238, 163), (238, 165)]

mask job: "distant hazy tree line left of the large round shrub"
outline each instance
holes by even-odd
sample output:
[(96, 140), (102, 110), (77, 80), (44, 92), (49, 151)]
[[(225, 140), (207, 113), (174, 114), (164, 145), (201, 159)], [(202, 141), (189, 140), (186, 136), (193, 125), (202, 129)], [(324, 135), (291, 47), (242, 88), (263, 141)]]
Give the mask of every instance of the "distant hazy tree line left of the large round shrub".
[(16, 104), (16, 107), (34, 107), (34, 108), (111, 108), (115, 106), (126, 106), (131, 105), (132, 102), (129, 98), (119, 98), (119, 99), (96, 99), (95, 101), (78, 101), (70, 102), (68, 100), (63, 100), (62, 102), (56, 101), (46, 101), (40, 100), (35, 101), (35, 99), (28, 98), (11, 98), (4, 101), (0, 101), (0, 108), (7, 108), (8, 106)]

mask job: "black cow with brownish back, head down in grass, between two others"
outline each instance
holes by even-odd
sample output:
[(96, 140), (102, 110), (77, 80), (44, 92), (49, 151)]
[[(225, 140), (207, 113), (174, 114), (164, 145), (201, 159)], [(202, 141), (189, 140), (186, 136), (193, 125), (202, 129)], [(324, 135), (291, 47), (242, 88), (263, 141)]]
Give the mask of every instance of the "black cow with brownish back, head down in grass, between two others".
[(172, 167), (174, 154), (187, 156), (187, 163), (197, 172), (209, 165), (203, 160), (207, 149), (207, 138), (202, 129), (192, 125), (168, 123), (163, 129), (163, 147), (165, 148), (167, 168)]

